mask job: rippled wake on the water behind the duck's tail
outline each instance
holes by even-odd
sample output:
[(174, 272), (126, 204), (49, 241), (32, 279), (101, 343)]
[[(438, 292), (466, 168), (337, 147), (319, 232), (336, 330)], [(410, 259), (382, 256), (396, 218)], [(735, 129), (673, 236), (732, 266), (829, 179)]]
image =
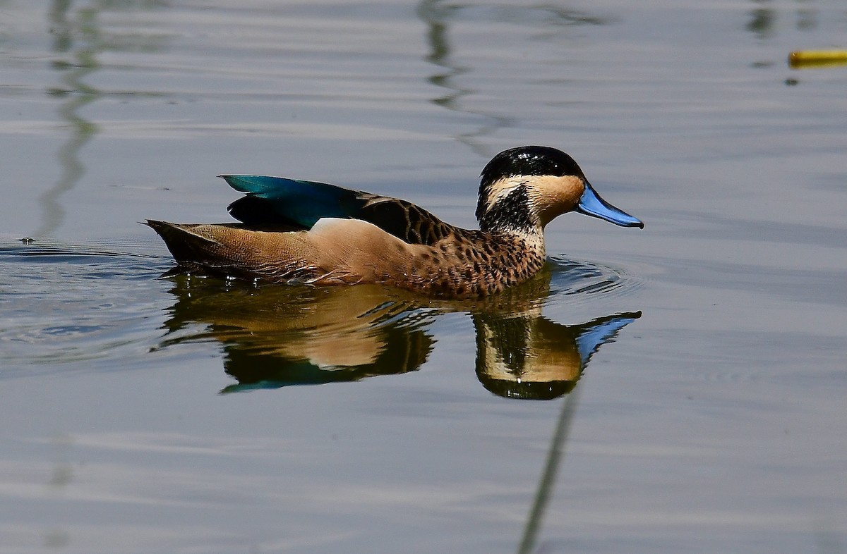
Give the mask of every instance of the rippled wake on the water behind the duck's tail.
[(146, 351), (164, 258), (61, 244), (0, 245), (3, 376)]

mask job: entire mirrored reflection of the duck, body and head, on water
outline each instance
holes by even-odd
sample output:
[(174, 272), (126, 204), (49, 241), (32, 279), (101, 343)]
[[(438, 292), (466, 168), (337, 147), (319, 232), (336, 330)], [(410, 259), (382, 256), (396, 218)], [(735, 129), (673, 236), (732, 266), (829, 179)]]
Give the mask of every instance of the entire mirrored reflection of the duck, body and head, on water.
[[(640, 312), (566, 326), (540, 314), (550, 272), (477, 301), (430, 301), (377, 285), (259, 287), (171, 277), (176, 302), (163, 346), (212, 340), (235, 384), (221, 392), (357, 381), (418, 370), (435, 344), (427, 327), (467, 312), (476, 332), (476, 372), (507, 398), (557, 398), (579, 380), (591, 354)], [(197, 332), (196, 324), (205, 326)]]

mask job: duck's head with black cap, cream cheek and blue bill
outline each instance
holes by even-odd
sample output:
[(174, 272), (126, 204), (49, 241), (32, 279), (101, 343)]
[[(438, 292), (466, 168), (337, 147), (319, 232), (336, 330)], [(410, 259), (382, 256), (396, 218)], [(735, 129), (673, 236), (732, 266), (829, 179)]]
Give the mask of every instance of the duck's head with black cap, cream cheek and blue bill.
[(544, 229), (568, 211), (621, 227), (644, 228), (639, 219), (603, 200), (577, 162), (555, 148), (519, 146), (502, 151), (480, 177), (476, 217), (483, 231)]

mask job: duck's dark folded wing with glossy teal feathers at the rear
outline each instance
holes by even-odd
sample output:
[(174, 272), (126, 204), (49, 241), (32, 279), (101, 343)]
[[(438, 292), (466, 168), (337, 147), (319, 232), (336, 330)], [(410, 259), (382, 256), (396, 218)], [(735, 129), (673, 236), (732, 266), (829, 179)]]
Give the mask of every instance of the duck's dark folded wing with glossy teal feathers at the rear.
[(221, 175), (246, 193), (228, 210), (257, 228), (310, 229), (322, 217), (361, 219), (409, 244), (435, 244), (451, 226), (406, 200), (343, 189), (333, 184), (263, 175)]

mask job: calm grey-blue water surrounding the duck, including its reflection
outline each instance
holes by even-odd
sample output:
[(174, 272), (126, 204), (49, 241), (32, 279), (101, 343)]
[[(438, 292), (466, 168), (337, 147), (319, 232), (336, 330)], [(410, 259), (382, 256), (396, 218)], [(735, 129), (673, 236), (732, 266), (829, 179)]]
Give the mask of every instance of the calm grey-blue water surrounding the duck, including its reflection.
[[(845, 37), (819, 0), (0, 2), (0, 552), (847, 551), (847, 67), (786, 63)], [(646, 227), (562, 217), (493, 304), (160, 279), (136, 224), (268, 173), (472, 227), (523, 144)]]

